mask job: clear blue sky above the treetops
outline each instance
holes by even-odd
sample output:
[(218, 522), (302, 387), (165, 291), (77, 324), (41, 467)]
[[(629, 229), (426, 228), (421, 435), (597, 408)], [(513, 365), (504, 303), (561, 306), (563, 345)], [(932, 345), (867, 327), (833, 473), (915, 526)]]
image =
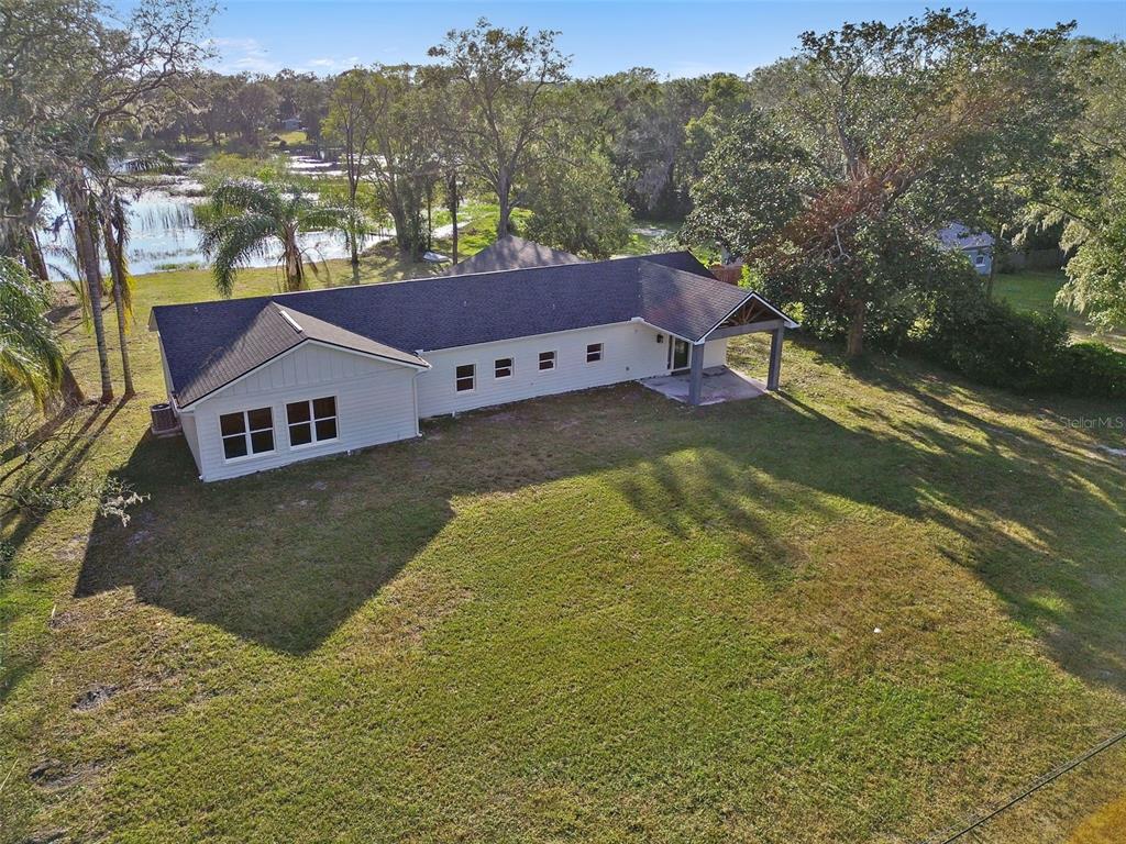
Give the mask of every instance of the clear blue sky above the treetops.
[[(1096, 2), (931, 2), (959, 8), (999, 29), (1075, 19), (1079, 33), (1126, 37), (1126, 0)], [(790, 55), (798, 33), (844, 20), (885, 21), (918, 15), (910, 2), (339, 2), (226, 0), (212, 30), (227, 72), (274, 73), (288, 66), (336, 73), (374, 62), (423, 62), (450, 28), (481, 16), (507, 27), (561, 30), (558, 45), (579, 77), (633, 66), (671, 77), (747, 73)]]

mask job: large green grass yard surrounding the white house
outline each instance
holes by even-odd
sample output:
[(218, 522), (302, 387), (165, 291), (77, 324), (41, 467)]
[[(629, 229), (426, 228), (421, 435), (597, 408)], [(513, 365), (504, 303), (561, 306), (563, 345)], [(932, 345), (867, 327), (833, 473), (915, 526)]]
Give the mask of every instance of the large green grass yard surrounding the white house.
[[(138, 326), (211, 290), (143, 278)], [(1069, 424), (1120, 406), (790, 343), (777, 397), (620, 386), (203, 485), (129, 343), (69, 461), (151, 500), (6, 528), (5, 842), (915, 842), (1126, 726), (1126, 434)], [(968, 839), (1114, 841), (1124, 771)]]

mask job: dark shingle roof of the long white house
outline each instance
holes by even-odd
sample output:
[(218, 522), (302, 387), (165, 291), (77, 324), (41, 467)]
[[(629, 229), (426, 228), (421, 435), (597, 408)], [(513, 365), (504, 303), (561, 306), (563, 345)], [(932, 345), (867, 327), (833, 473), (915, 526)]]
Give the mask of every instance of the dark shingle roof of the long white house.
[(307, 339), (425, 366), (410, 351), (635, 317), (686, 340), (699, 340), (752, 295), (717, 281), (690, 253), (670, 252), (159, 305), (152, 309), (152, 325), (160, 332), (172, 389), (182, 407), (293, 348), (296, 332), (284, 324), (282, 308), (306, 329)]

